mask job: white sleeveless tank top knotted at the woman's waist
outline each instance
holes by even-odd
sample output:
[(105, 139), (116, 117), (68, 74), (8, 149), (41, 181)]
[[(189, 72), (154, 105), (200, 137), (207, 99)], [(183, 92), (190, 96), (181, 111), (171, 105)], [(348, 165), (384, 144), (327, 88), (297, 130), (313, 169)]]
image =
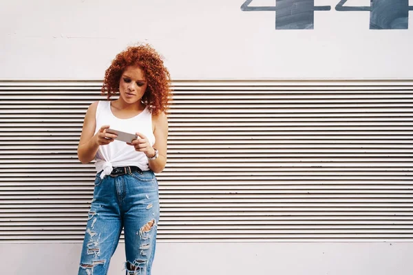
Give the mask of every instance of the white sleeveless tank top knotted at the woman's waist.
[[(99, 101), (96, 109), (96, 129), (95, 134), (103, 125), (110, 125), (111, 129), (127, 133), (136, 132), (145, 135), (151, 146), (155, 144), (155, 136), (152, 130), (152, 114), (146, 107), (133, 118), (116, 118), (110, 108), (110, 101)], [(107, 145), (100, 145), (95, 156), (96, 170), (103, 172), (100, 177), (112, 173), (113, 167), (138, 166), (142, 170), (149, 170), (148, 159), (145, 153), (135, 151), (134, 146), (127, 145), (126, 142), (114, 140)]]

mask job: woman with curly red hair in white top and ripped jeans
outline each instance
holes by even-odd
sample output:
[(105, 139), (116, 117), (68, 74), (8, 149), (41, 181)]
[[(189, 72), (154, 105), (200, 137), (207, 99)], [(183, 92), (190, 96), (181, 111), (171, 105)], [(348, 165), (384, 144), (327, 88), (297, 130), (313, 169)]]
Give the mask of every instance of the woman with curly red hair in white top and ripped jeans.
[[(82, 163), (96, 159), (94, 198), (78, 274), (107, 274), (125, 234), (126, 274), (151, 274), (159, 221), (158, 182), (167, 163), (167, 111), (170, 76), (149, 45), (128, 47), (106, 70), (107, 101), (87, 109), (78, 144)], [(110, 101), (111, 96), (118, 99)], [(134, 133), (130, 143), (109, 129)]]

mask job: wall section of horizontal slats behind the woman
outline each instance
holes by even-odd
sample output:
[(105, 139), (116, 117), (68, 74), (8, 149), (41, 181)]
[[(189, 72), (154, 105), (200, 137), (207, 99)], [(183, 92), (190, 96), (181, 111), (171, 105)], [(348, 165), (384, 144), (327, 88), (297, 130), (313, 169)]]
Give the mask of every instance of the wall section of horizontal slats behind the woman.
[[(413, 81), (176, 81), (160, 241), (412, 241)], [(82, 241), (98, 81), (0, 82), (0, 242)]]

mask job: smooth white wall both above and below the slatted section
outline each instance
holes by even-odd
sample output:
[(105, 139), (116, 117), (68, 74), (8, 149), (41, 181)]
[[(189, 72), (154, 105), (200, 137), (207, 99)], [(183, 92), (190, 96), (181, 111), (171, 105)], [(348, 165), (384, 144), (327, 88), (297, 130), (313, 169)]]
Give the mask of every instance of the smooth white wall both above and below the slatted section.
[[(275, 30), (244, 0), (37, 0), (0, 5), (0, 79), (101, 79), (114, 55), (154, 45), (175, 79), (413, 78), (409, 30), (369, 30), (368, 12), (316, 12)], [(273, 5), (275, 1), (259, 1)], [(3, 244), (3, 274), (74, 274), (81, 244)], [(111, 274), (122, 274), (123, 245)], [(404, 275), (412, 243), (160, 243), (158, 274)]]

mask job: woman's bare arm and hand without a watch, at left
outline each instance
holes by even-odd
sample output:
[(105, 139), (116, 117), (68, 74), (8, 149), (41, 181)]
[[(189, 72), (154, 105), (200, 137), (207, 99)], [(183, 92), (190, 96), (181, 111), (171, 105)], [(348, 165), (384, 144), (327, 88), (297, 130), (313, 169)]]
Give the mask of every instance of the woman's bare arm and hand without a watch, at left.
[(113, 138), (116, 137), (116, 135), (105, 132), (106, 129), (109, 128), (109, 125), (100, 127), (98, 133), (94, 135), (94, 131), (96, 129), (95, 115), (97, 107), (98, 102), (90, 104), (85, 115), (85, 121), (83, 122), (81, 140), (78, 144), (78, 159), (83, 164), (92, 162), (99, 146), (113, 142)]

